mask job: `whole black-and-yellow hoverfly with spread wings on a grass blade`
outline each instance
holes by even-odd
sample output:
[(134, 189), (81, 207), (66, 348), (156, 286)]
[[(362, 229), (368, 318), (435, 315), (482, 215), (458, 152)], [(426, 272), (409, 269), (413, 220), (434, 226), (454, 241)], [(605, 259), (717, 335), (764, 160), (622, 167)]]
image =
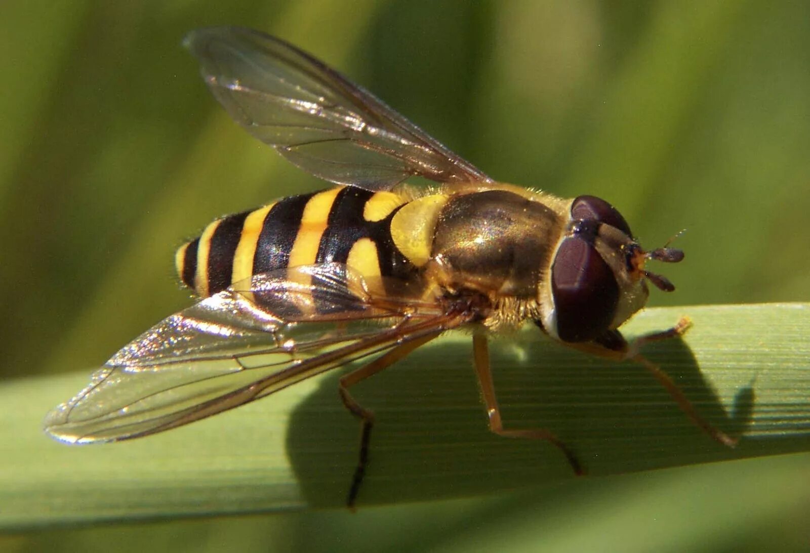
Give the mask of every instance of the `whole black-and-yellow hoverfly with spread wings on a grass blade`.
[[(51, 411), (63, 442), (125, 440), (175, 428), (262, 398), (309, 376), (364, 361), (339, 380), (361, 423), (348, 492), (355, 503), (373, 414), (357, 382), (447, 330), (471, 330), (489, 428), (548, 440), (542, 428), (505, 428), (492, 384), (488, 335), (534, 323), (569, 347), (650, 369), (715, 440), (712, 427), (659, 368), (617, 330), (646, 303), (646, 269), (683, 253), (646, 251), (608, 202), (561, 199), (493, 181), (368, 91), (282, 40), (245, 28), (204, 28), (185, 46), (214, 96), (245, 130), (336, 187), (279, 199), (209, 224), (178, 250), (196, 304), (141, 334)], [(408, 177), (433, 187), (403, 184)]]

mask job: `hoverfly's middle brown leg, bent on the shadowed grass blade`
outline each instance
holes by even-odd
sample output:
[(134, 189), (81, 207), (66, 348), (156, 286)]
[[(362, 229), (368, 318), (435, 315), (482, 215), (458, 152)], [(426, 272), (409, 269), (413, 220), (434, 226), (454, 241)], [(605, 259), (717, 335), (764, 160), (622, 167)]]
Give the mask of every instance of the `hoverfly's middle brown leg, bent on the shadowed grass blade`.
[(568, 459), (569, 465), (575, 474), (585, 474), (577, 457), (568, 449), (556, 436), (544, 428), (525, 429), (505, 429), (501, 420), (501, 410), (498, 407), (498, 400), (495, 395), (495, 385), (492, 382), (492, 371), (489, 367), (489, 347), (487, 337), (484, 334), (475, 334), (472, 338), (472, 348), (475, 357), (475, 373), (478, 375), (478, 382), (481, 387), (481, 395), (484, 396), (484, 403), (487, 406), (489, 415), (489, 430), (498, 436), (507, 438), (530, 438), (533, 440), (547, 440), (556, 446), (557, 449)]

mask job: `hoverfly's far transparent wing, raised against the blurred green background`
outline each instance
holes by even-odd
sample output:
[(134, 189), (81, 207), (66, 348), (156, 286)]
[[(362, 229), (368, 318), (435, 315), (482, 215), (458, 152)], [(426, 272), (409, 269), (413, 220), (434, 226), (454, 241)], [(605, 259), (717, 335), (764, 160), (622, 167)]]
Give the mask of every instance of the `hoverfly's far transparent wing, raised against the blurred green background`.
[(411, 176), (491, 181), (369, 91), (283, 40), (217, 27), (190, 32), (184, 44), (231, 117), (317, 177), (369, 190)]

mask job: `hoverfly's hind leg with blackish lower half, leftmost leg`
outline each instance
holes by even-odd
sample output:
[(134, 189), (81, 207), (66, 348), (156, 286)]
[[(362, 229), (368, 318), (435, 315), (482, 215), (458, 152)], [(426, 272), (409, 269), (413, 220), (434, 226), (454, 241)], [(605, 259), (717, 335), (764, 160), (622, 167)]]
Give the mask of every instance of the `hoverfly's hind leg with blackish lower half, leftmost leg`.
[(398, 347), (394, 347), (385, 355), (374, 359), (371, 363), (358, 368), (356, 371), (349, 372), (343, 376), (339, 381), (338, 390), (340, 398), (343, 399), (343, 405), (360, 419), (360, 458), (357, 461), (354, 476), (352, 477), (352, 487), (349, 488), (349, 495), (346, 500), (348, 508), (354, 510), (355, 500), (357, 493), (360, 491), (360, 484), (363, 483), (365, 476), (365, 467), (369, 463), (369, 438), (371, 437), (371, 428), (374, 425), (374, 414), (372, 411), (360, 406), (352, 394), (349, 393), (349, 388), (356, 385), (360, 381), (364, 381), (369, 376), (377, 374), (382, 369), (396, 363), (403, 359), (406, 355), (414, 351), (417, 347), (423, 346), (425, 343), (430, 342), (436, 338), (441, 332), (428, 334), (422, 338), (416, 338), (411, 342), (405, 342)]

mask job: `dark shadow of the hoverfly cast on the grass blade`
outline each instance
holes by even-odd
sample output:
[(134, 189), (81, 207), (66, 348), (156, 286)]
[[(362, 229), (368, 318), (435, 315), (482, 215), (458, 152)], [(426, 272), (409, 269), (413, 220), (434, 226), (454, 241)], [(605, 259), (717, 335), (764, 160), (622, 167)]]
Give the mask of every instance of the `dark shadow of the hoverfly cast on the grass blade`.
[[(375, 415), (359, 506), (575, 478), (552, 445), (488, 431), (470, 342), (463, 335), (440, 339), (352, 389)], [(742, 436), (752, 423), (752, 385), (724, 407), (680, 338), (650, 344), (644, 354), (710, 423), (731, 436)], [(701, 432), (639, 364), (596, 359), (548, 340), (518, 346), (497, 341), (492, 368), (505, 427), (548, 428), (573, 449), (588, 474), (746, 456), (745, 448), (724, 447)], [(340, 401), (338, 378), (323, 379), (294, 410), (288, 428), (293, 470), (315, 506), (344, 500), (359, 450), (360, 424)]]

